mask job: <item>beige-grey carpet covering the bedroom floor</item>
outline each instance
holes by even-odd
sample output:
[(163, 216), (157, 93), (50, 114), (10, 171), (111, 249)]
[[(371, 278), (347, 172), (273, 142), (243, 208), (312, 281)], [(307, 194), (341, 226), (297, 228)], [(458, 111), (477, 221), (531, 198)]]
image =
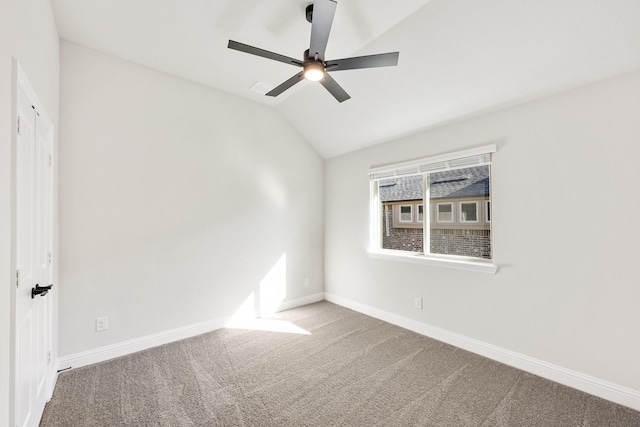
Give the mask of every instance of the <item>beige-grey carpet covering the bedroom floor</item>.
[[(41, 426), (640, 426), (640, 412), (343, 307), (62, 373)], [(278, 322), (276, 322), (278, 323)]]

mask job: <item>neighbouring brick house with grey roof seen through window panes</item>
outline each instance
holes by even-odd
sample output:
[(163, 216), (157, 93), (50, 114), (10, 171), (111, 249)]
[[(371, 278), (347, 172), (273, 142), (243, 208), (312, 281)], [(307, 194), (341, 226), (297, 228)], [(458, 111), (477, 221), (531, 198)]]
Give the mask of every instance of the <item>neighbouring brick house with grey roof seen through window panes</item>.
[[(489, 166), (428, 175), (430, 252), (491, 259)], [(424, 178), (381, 180), (382, 247), (423, 252)]]

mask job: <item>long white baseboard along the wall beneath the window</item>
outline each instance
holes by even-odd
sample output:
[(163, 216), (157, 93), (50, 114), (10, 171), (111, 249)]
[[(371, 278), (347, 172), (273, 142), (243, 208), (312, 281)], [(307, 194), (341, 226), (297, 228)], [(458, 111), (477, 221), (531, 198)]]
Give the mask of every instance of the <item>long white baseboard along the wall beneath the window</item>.
[(454, 345), (472, 353), (530, 372), (551, 381), (584, 391), (585, 393), (619, 403), (640, 411), (640, 391), (623, 387), (580, 372), (525, 356), (492, 344), (446, 331), (426, 323), (377, 309), (338, 295), (325, 293), (325, 299), (354, 311), (375, 317), (438, 341)]

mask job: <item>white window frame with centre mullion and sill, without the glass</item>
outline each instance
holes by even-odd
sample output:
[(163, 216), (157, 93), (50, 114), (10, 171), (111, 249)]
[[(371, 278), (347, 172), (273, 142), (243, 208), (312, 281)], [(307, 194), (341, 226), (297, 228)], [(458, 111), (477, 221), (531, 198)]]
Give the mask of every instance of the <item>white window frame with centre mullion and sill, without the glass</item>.
[[(425, 248), (429, 248), (428, 242), (431, 242), (431, 233), (430, 233), (430, 224), (432, 222), (431, 218), (431, 209), (427, 209), (427, 203), (430, 203), (430, 195), (429, 195), (429, 184), (427, 182), (429, 178), (429, 173), (445, 171), (445, 170), (454, 170), (454, 169), (464, 169), (468, 167), (475, 166), (489, 166), (489, 180), (491, 182), (492, 178), (492, 153), (497, 151), (497, 147), (495, 144), (490, 144), (482, 147), (472, 148), (468, 150), (462, 150), (452, 153), (445, 153), (437, 156), (427, 157), (423, 159), (413, 160), (409, 162), (403, 163), (395, 163), (386, 166), (373, 167), (369, 170), (369, 178), (370, 178), (370, 245), (367, 250), (367, 253), (372, 258), (391, 260), (391, 261), (401, 261), (401, 262), (410, 262), (417, 263), (422, 265), (430, 265), (437, 267), (445, 267), (445, 268), (453, 268), (458, 270), (467, 270), (467, 271), (475, 271), (482, 273), (495, 274), (498, 271), (498, 266), (495, 262), (495, 248), (493, 245), (493, 227), (491, 226), (490, 230), (490, 239), (491, 239), (491, 259), (484, 258), (476, 258), (476, 257), (467, 257), (460, 255), (448, 255), (448, 254), (437, 254), (424, 252)], [(476, 158), (478, 160), (476, 160)], [(473, 161), (477, 161), (476, 164), (469, 163), (469, 159)], [(382, 249), (382, 235), (383, 235), (383, 227), (381, 226), (381, 218), (383, 215), (382, 212), (382, 203), (380, 202), (380, 195), (378, 192), (378, 182), (385, 178), (391, 177), (400, 177), (400, 176), (410, 176), (410, 175), (421, 175), (423, 176), (423, 180), (425, 182), (424, 186), (424, 196), (423, 196), (423, 212), (424, 212), (424, 220), (422, 221), (423, 225), (423, 252), (409, 252), (409, 251), (401, 251), (401, 250), (392, 250), (392, 249)], [(490, 184), (491, 185), (491, 184)], [(492, 188), (493, 190), (493, 188)], [(485, 206), (487, 203), (490, 203), (493, 198), (493, 191), (489, 193), (489, 200), (485, 200)], [(447, 202), (448, 203), (448, 202)], [(477, 221), (471, 222), (467, 221), (463, 224), (479, 224), (481, 223), (481, 213), (479, 209), (479, 203), (476, 201), (476, 216)], [(416, 204), (418, 206), (418, 204)], [(452, 206), (452, 216), (455, 216), (456, 209)], [(413, 209), (412, 209), (413, 212)], [(437, 215), (436, 215), (437, 216)], [(485, 216), (484, 219), (489, 218)], [(413, 219), (413, 218), (412, 218)], [(455, 218), (454, 223), (455, 223)], [(485, 221), (490, 224), (491, 221)], [(442, 222), (444, 223), (444, 222)], [(448, 222), (451, 224), (451, 222)], [(405, 222), (406, 224), (406, 222)]]

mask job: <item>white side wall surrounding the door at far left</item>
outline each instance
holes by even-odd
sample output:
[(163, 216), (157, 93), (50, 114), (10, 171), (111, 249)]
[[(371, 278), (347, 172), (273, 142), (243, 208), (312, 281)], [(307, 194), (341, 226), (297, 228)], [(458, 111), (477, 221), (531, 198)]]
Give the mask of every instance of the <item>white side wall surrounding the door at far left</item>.
[[(14, 233), (11, 222), (11, 191), (15, 186), (11, 174), (11, 159), (14, 155), (11, 149), (14, 132), (12, 94), (15, 91), (12, 58), (20, 62), (54, 127), (57, 128), (58, 34), (48, 1), (3, 0), (0, 3), (0, 425), (10, 425), (10, 417), (13, 416), (10, 390), (10, 363), (13, 352), (11, 289), (15, 274), (11, 246)], [(54, 150), (56, 147), (57, 141)], [(54, 247), (55, 244), (54, 240)], [(54, 264), (55, 274), (57, 268)], [(55, 293), (52, 295), (55, 296)], [(54, 303), (54, 307), (55, 305)], [(54, 347), (54, 354), (55, 351)]]

